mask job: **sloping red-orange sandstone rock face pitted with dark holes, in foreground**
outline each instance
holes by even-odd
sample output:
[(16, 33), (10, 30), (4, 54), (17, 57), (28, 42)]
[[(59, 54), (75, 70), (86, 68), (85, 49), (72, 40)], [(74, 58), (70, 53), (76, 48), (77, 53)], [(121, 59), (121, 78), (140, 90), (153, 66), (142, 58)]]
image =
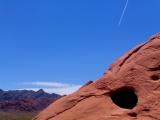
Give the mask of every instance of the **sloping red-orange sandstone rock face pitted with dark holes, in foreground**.
[(160, 34), (33, 120), (160, 120)]

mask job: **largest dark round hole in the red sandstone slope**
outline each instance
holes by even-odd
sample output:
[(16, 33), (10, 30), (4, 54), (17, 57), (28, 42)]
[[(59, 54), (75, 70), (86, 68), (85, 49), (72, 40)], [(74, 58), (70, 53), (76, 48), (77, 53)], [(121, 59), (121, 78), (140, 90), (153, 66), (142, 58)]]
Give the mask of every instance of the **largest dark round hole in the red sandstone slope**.
[(112, 101), (119, 107), (125, 109), (133, 109), (137, 102), (137, 95), (132, 88), (120, 88), (111, 93)]

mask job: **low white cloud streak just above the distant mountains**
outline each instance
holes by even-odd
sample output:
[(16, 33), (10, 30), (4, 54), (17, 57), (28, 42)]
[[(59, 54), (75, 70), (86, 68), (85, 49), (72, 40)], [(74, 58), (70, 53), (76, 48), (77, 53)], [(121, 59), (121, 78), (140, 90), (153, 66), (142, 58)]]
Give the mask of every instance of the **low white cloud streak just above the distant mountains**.
[[(23, 85), (23, 90), (34, 90), (38, 91), (39, 89), (43, 89), (45, 92), (48, 93), (56, 93), (60, 95), (68, 95), (75, 91), (77, 91), (82, 85), (75, 85), (75, 84), (67, 84), (67, 83), (60, 83), (60, 82), (30, 82), (25, 83)], [(20, 89), (22, 90), (22, 89)]]

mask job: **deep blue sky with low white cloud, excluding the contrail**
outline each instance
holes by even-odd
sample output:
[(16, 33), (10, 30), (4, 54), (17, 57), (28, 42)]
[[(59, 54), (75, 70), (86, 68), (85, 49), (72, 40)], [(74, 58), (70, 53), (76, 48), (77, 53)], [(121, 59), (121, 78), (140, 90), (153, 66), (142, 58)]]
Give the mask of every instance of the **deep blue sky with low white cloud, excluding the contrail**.
[(160, 1), (0, 0), (0, 88), (67, 94), (159, 32)]

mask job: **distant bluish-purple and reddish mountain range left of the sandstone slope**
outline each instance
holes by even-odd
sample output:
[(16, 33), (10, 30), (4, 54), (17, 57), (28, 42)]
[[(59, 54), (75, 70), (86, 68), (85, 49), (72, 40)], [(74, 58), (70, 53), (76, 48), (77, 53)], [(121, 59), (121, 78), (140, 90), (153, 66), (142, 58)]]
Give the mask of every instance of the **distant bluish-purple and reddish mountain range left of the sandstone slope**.
[(55, 93), (46, 93), (43, 89), (37, 92), (32, 90), (3, 91), (0, 89), (0, 111), (38, 112), (60, 97)]

